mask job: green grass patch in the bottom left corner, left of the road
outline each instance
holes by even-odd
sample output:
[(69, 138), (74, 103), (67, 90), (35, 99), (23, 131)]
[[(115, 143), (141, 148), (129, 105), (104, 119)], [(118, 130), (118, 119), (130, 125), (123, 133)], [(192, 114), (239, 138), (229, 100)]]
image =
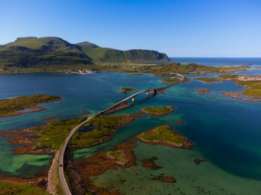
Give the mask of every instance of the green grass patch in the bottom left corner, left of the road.
[(49, 194), (47, 190), (34, 187), (31, 183), (14, 183), (9, 181), (0, 181), (0, 194), (21, 194), (21, 195), (45, 195)]

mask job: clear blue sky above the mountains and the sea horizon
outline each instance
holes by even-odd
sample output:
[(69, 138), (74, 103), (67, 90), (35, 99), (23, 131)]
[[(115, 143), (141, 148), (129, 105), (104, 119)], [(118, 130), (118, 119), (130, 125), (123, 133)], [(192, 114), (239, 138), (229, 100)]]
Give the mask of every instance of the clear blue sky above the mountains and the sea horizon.
[(23, 36), (179, 57), (261, 57), (261, 1), (1, 0), (0, 44)]

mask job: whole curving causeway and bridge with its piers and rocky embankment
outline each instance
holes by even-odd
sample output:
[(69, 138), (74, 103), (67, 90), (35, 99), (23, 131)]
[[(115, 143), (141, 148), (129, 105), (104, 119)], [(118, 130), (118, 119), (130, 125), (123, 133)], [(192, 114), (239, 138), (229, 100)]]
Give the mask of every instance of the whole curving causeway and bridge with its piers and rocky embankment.
[(74, 127), (71, 130), (71, 133), (69, 133), (69, 135), (66, 138), (62, 148), (60, 149), (60, 156), (59, 156), (59, 160), (58, 160), (59, 161), (58, 173), (59, 173), (59, 178), (60, 178), (60, 184), (63, 187), (63, 192), (64, 192), (65, 195), (71, 195), (71, 190), (69, 189), (69, 185), (67, 184), (67, 181), (65, 179), (65, 172), (64, 172), (63, 164), (64, 164), (64, 157), (65, 157), (65, 151), (66, 151), (66, 148), (67, 148), (67, 144), (69, 143), (69, 140), (71, 140), (73, 134), (76, 133), (76, 131), (78, 131), (78, 129), (80, 129), (80, 127), (82, 127), (82, 125), (84, 125), (86, 122), (88, 122), (89, 120), (91, 120), (92, 118), (94, 118), (96, 116), (111, 114), (113, 112), (117, 112), (120, 109), (130, 107), (131, 105), (126, 103), (126, 101), (131, 99), (134, 102), (135, 96), (137, 96), (138, 94), (141, 94), (141, 93), (144, 93), (144, 92), (146, 92), (147, 96), (149, 96), (149, 94), (160, 94), (160, 93), (163, 93), (164, 90), (176, 85), (177, 83), (180, 83), (181, 81), (183, 81), (183, 79), (185, 79), (185, 77), (183, 75), (180, 75), (180, 74), (177, 74), (177, 73), (171, 73), (171, 75), (177, 75), (178, 78), (180, 79), (180, 81), (176, 82), (176, 83), (171, 83), (168, 86), (163, 86), (161, 88), (142, 90), (140, 92), (132, 94), (131, 96), (128, 96), (126, 99), (123, 99), (122, 101), (119, 101), (119, 102), (115, 103), (114, 105), (111, 105), (107, 109), (104, 109), (102, 112), (99, 112), (98, 114), (95, 114), (94, 116), (87, 118), (87, 120), (84, 120), (83, 122), (81, 122), (79, 125), (77, 125), (76, 127)]

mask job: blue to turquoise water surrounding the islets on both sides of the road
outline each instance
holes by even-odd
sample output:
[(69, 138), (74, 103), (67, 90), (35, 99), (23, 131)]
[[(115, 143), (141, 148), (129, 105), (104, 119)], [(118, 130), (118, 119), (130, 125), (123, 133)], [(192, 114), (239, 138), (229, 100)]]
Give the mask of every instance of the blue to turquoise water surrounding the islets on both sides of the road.
[[(243, 74), (243, 73), (242, 73)], [(215, 75), (212, 75), (213, 77)], [(0, 75), (0, 99), (29, 94), (54, 94), (62, 101), (47, 103), (43, 112), (34, 112), (10, 118), (0, 117), (0, 131), (16, 131), (45, 123), (43, 118), (60, 114), (60, 118), (79, 117), (84, 111), (96, 114), (124, 99), (128, 94), (117, 90), (122, 87), (156, 88), (165, 86), (161, 77), (150, 74), (129, 76), (124, 73), (96, 73), (91, 75), (23, 74)], [(197, 88), (212, 90), (201, 95)], [(203, 83), (190, 81), (168, 88), (165, 94), (146, 98), (140, 94), (135, 105), (117, 114), (135, 114), (144, 106), (174, 105), (174, 113), (166, 116), (144, 116), (117, 131), (104, 144), (74, 152), (74, 160), (90, 157), (100, 151), (109, 151), (117, 144), (159, 125), (169, 124), (194, 143), (192, 150), (137, 143), (133, 148), (137, 166), (117, 168), (93, 177), (95, 185), (120, 190), (125, 194), (261, 194), (261, 103), (241, 101), (223, 96), (225, 91), (242, 90), (231, 81)], [(184, 125), (173, 122), (183, 120)], [(32, 177), (48, 168), (52, 155), (15, 155), (6, 138), (0, 138), (0, 174)], [(159, 170), (141, 166), (142, 159), (156, 156)], [(194, 158), (206, 162), (194, 164)], [(165, 174), (177, 183), (151, 180)], [(121, 183), (121, 179), (126, 182)]]

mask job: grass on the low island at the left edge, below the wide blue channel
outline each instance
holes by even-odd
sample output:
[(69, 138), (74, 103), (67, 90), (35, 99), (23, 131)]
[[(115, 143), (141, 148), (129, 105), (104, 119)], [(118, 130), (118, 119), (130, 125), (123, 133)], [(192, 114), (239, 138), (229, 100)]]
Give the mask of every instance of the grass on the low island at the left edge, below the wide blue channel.
[(0, 100), (0, 116), (13, 116), (17, 114), (16, 111), (32, 108), (38, 103), (47, 103), (58, 99), (60, 97), (52, 95), (32, 95), (2, 99)]

